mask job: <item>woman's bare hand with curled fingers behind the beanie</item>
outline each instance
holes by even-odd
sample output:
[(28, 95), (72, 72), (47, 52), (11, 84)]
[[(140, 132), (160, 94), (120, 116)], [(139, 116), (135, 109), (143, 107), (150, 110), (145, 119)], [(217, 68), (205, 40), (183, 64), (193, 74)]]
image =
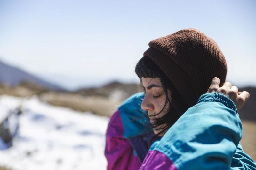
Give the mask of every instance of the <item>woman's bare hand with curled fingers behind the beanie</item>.
[(207, 93), (220, 93), (228, 96), (236, 105), (237, 112), (241, 107), (243, 107), (244, 103), (249, 99), (250, 94), (246, 91), (238, 92), (238, 88), (236, 86), (232, 86), (232, 84), (228, 81), (223, 83), (220, 87), (220, 79), (215, 77), (212, 79), (212, 84), (210, 85)]

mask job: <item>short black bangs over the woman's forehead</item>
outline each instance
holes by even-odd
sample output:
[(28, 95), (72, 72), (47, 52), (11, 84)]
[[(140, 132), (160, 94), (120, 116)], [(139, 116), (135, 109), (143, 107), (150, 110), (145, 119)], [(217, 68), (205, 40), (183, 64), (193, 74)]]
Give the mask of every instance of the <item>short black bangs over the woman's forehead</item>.
[(135, 73), (139, 78), (161, 77), (162, 70), (148, 57), (142, 57), (136, 64)]

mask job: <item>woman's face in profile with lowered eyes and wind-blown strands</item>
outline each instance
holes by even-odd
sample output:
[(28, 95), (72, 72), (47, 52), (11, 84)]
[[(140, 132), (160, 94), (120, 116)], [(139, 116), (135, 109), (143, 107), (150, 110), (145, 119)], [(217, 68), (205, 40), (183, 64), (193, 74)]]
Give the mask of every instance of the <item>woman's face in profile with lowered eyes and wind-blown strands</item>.
[[(164, 89), (161, 85), (160, 78), (141, 78), (141, 82), (145, 91), (145, 97), (143, 102), (141, 103), (141, 108), (143, 110), (148, 111), (148, 116), (150, 122), (154, 124), (155, 118), (162, 117), (167, 113), (167, 109), (164, 109), (160, 114), (159, 113), (164, 107), (164, 103), (166, 100), (166, 95), (164, 93)], [(167, 103), (166, 108), (169, 107)], [(158, 126), (157, 128), (163, 127), (165, 125)], [(159, 130), (154, 129), (154, 133), (157, 134)]]

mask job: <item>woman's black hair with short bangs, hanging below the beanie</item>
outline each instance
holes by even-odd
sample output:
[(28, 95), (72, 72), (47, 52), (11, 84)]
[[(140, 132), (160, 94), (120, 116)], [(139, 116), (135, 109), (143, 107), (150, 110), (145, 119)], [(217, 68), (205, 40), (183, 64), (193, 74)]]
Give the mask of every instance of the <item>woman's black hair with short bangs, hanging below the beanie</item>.
[[(159, 130), (156, 136), (168, 130), (178, 119), (179, 117), (188, 109), (188, 105), (180, 96), (179, 92), (176, 90), (169, 78), (164, 74), (164, 72), (148, 57), (142, 57), (139, 62), (136, 64), (135, 73), (140, 78), (160, 78), (164, 93), (166, 94), (166, 100), (162, 110), (156, 115), (160, 114), (163, 110), (167, 110), (167, 114), (157, 118), (154, 125), (151, 125), (151, 128)], [(168, 90), (171, 91), (168, 93)], [(167, 108), (167, 104), (169, 107)], [(155, 116), (155, 115), (153, 115)], [(163, 126), (165, 124), (165, 126)], [(156, 138), (156, 136), (154, 138)], [(153, 140), (153, 139), (152, 139)], [(152, 143), (153, 141), (151, 141)]]

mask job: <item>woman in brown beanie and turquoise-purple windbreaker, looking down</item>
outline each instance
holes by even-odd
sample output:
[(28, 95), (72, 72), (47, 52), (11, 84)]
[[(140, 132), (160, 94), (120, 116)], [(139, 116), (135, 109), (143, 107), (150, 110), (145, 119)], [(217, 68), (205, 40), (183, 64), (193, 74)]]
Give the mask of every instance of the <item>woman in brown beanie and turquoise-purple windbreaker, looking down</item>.
[[(133, 95), (111, 117), (108, 169), (256, 168), (239, 143), (237, 110), (249, 93), (225, 82), (227, 64), (215, 41), (196, 29), (150, 41), (135, 72), (145, 96)], [(144, 115), (139, 105), (153, 138), (148, 119), (134, 119)]]

